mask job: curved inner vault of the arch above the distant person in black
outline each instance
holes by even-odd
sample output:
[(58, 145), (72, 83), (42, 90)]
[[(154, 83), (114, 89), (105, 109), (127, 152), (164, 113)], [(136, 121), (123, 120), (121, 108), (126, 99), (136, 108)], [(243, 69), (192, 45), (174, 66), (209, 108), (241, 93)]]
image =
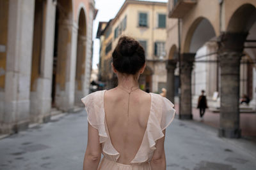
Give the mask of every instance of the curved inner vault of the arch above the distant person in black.
[(191, 24), (184, 41), (184, 53), (196, 53), (207, 41), (214, 38), (216, 32), (205, 17), (198, 17)]

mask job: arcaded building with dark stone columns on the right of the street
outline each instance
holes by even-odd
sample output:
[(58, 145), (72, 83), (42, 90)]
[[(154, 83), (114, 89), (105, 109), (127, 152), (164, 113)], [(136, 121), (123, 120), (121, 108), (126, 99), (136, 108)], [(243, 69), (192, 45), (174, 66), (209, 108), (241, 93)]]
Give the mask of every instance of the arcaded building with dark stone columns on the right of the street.
[(168, 1), (167, 94), (173, 99), (179, 62), (179, 118), (192, 118), (191, 107), (204, 89), (209, 105), (220, 111), (219, 135), (241, 136), (241, 96), (249, 96), (249, 107), (256, 109), (255, 7), (255, 0)]

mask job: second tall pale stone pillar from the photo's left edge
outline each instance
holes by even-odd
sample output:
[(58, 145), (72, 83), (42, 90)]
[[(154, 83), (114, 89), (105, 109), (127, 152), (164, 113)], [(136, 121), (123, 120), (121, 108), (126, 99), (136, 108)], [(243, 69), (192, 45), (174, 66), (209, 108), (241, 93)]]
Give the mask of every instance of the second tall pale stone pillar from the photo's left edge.
[(47, 0), (42, 34), (40, 75), (35, 81), (36, 90), (30, 93), (30, 119), (33, 122), (48, 122), (51, 116), (55, 11), (56, 5), (51, 0)]

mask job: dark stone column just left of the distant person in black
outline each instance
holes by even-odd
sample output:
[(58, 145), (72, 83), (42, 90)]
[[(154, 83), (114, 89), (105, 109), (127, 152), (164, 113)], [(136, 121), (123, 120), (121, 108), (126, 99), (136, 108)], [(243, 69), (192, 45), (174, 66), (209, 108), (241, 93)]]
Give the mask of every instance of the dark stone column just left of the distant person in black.
[(191, 71), (195, 53), (182, 53), (180, 56), (180, 119), (192, 119)]

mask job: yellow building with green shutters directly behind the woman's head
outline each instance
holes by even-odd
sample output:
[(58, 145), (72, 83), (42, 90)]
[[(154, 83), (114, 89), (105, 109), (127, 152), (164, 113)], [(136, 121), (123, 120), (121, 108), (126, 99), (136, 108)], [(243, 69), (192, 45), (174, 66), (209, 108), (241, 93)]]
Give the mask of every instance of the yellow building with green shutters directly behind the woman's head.
[(111, 68), (111, 54), (120, 36), (131, 36), (143, 46), (147, 67), (140, 76), (140, 87), (150, 92), (161, 92), (166, 87), (165, 41), (166, 3), (127, 0), (115, 18), (99, 24), (100, 78), (107, 89), (115, 87), (116, 78)]

